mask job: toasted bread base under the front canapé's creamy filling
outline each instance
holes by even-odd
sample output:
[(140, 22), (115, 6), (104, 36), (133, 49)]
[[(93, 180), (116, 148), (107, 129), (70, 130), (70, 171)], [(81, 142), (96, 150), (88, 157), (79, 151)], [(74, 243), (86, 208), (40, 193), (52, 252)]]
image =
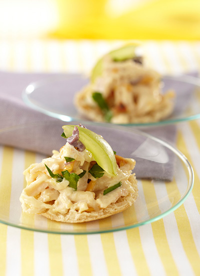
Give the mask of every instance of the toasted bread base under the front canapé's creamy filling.
[(138, 196), (138, 189), (137, 189), (137, 181), (134, 178), (132, 178), (132, 188), (134, 189), (134, 193), (128, 193), (125, 197), (120, 197), (116, 202), (109, 204), (105, 209), (100, 209), (98, 211), (91, 211), (91, 212), (82, 212), (78, 213), (76, 210), (68, 210), (67, 213), (61, 214), (61, 213), (55, 213), (52, 210), (47, 210), (44, 213), (41, 213), (42, 216), (49, 218), (51, 220), (61, 221), (61, 222), (69, 222), (69, 223), (80, 223), (80, 222), (86, 222), (96, 219), (105, 218), (114, 214), (117, 214), (119, 212), (124, 211), (129, 206), (132, 205), (132, 203), (135, 201), (135, 199)]

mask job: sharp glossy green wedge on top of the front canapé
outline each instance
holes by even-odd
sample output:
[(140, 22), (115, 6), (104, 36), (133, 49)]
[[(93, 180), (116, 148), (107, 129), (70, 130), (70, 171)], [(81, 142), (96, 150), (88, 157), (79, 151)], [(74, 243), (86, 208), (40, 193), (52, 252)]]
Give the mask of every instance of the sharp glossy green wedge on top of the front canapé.
[[(66, 137), (72, 135), (74, 125), (67, 124), (62, 126)], [(85, 146), (94, 157), (96, 163), (109, 175), (116, 175), (116, 160), (110, 145), (98, 134), (93, 131), (77, 126), (79, 130), (79, 141)]]

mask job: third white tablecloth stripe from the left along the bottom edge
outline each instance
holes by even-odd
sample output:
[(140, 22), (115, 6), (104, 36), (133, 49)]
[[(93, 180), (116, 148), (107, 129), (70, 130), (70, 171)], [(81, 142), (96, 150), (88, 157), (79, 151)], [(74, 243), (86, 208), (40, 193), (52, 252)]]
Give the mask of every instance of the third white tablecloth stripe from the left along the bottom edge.
[(78, 275), (77, 254), (73, 235), (60, 235), (63, 275)]

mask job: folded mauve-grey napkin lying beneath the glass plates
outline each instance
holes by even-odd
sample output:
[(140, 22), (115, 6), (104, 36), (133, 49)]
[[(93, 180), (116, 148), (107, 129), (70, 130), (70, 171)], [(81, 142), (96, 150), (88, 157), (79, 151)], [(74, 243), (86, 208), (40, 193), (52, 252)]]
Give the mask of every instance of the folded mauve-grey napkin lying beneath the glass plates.
[[(51, 155), (53, 149), (59, 150), (64, 145), (65, 141), (60, 137), (60, 134), (62, 131), (61, 126), (65, 122), (29, 108), (21, 99), (22, 90), (30, 82), (52, 76), (64, 77), (66, 74), (0, 72), (0, 144), (34, 151), (48, 156)], [(170, 87), (170, 79), (168, 80), (167, 86)], [(178, 87), (178, 91), (185, 91), (184, 98), (186, 101), (188, 101), (188, 91), (190, 89), (192, 89), (192, 84), (187, 84), (186, 88), (185, 85)], [(181, 104), (183, 106), (183, 103)], [(70, 123), (77, 124), (80, 121)], [(124, 157), (134, 158), (136, 160), (135, 174), (137, 178), (172, 180), (174, 155), (168, 149), (163, 149), (162, 146), (159, 148), (156, 143), (153, 145), (152, 141), (147, 137), (137, 139), (136, 134), (135, 143), (131, 145), (130, 149), (129, 141), (131, 141), (133, 134), (130, 134), (130, 137), (127, 134), (125, 140), (119, 141), (117, 139), (118, 133), (116, 129), (112, 131), (113, 134), (110, 136), (99, 125), (88, 125), (88, 128), (103, 135), (118, 155), (122, 154)], [(99, 131), (100, 129), (101, 131)], [(176, 136), (175, 125), (145, 127), (142, 130), (174, 145)], [(121, 145), (123, 148), (121, 148)], [(165, 155), (163, 151), (165, 151)], [(165, 158), (165, 161), (160, 160), (160, 157)]]

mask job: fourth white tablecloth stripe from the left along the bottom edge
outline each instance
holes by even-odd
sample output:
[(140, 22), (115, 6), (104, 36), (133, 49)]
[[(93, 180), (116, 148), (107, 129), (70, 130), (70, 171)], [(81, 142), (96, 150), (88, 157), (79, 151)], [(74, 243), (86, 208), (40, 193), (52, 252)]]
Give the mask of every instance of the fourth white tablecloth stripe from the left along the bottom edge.
[(89, 247), (92, 274), (94, 276), (108, 275), (100, 235), (87, 235), (87, 242)]

